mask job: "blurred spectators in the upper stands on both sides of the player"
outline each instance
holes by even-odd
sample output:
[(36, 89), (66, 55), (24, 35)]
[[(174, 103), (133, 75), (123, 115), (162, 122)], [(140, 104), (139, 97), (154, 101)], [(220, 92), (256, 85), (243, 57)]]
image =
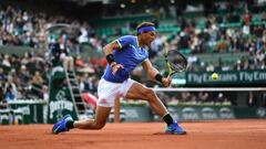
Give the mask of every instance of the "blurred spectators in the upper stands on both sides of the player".
[[(219, 62), (214, 66), (197, 60), (195, 55), (188, 56), (188, 71), (214, 71), (215, 67), (227, 71), (233, 68), (264, 68), (266, 49), (265, 23), (254, 24), (253, 14), (248, 10), (244, 14), (228, 13), (225, 17), (209, 15), (202, 19), (177, 18), (176, 23), (181, 31), (174, 39), (166, 42), (172, 49), (190, 50), (192, 54), (197, 53), (229, 53), (249, 52), (252, 56), (238, 60), (236, 66), (225, 65)], [(258, 17), (259, 22), (266, 21), (266, 12)], [(80, 44), (89, 44), (92, 50), (101, 51), (106, 44), (106, 36), (95, 33), (86, 22), (70, 20), (65, 17), (49, 17), (45, 13), (32, 13), (12, 7), (2, 7), (0, 11), (0, 45), (30, 46), (33, 49), (47, 47), (47, 44), (58, 40), (62, 45), (68, 44), (72, 53), (80, 53)], [(196, 21), (203, 21), (205, 25), (197, 28)], [(57, 23), (68, 23), (76, 29), (76, 33), (62, 32), (60, 35), (48, 36), (47, 30)], [(242, 23), (239, 28), (227, 28), (226, 23)], [(156, 22), (160, 25), (160, 22)], [(127, 28), (133, 28), (130, 24)], [(123, 25), (121, 25), (123, 28)], [(117, 34), (121, 35), (121, 34)], [(153, 42), (151, 57), (162, 51), (165, 40), (164, 35)], [(48, 43), (47, 43), (48, 42)], [(65, 47), (63, 47), (65, 49)]]

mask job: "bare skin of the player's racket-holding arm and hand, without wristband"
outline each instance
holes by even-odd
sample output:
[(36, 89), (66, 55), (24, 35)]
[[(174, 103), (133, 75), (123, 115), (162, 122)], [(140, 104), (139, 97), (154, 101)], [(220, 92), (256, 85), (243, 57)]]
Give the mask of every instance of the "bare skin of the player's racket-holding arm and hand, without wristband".
[[(147, 75), (151, 78), (155, 78), (155, 76), (157, 74), (160, 74), (160, 72), (152, 65), (151, 61), (149, 58), (146, 58), (143, 63), (142, 63), (143, 68), (147, 72)], [(171, 77), (163, 77), (162, 78), (162, 85), (165, 87), (168, 87), (171, 85), (172, 78)]]

